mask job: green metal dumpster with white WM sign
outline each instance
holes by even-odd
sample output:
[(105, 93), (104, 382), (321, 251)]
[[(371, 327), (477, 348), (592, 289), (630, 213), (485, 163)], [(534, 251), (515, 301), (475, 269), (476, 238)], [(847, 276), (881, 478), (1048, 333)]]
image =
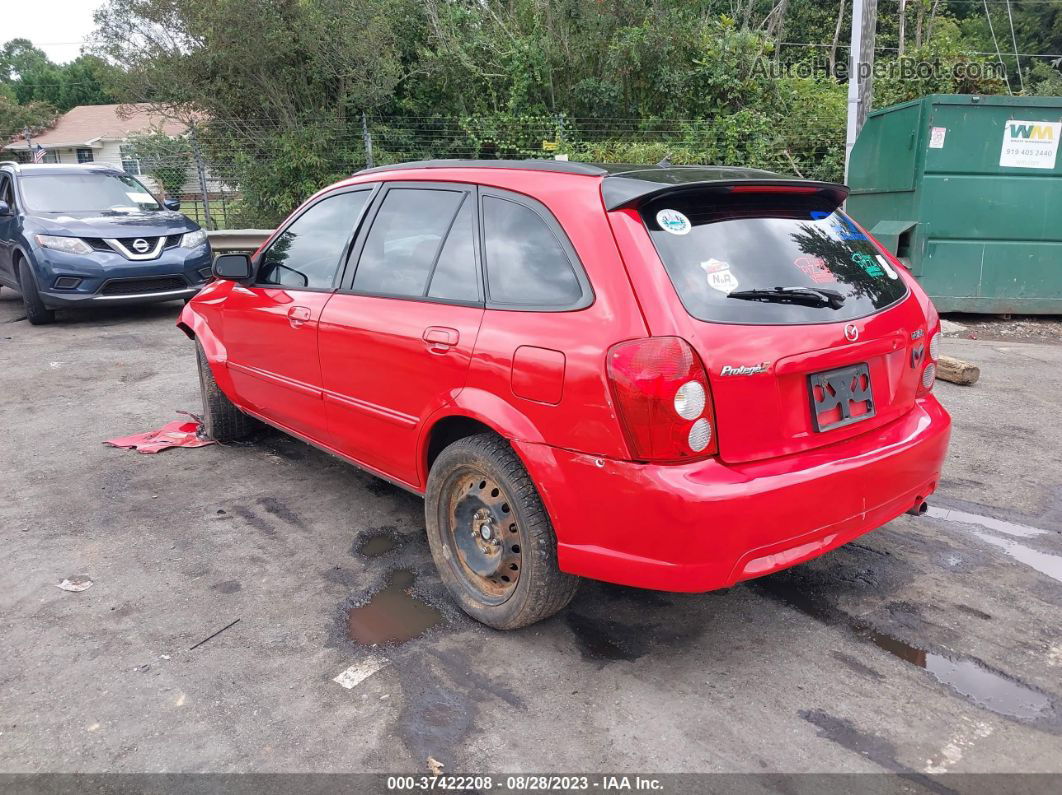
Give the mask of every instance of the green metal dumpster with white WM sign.
[(933, 94), (875, 110), (847, 210), (942, 312), (1062, 314), (1062, 98)]

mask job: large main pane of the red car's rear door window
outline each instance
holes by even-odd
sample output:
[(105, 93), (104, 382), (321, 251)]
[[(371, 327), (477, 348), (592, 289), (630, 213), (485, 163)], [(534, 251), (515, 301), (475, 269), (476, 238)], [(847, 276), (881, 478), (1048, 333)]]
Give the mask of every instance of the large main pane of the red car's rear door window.
[(365, 238), (354, 289), (380, 295), (425, 295), (443, 239), (464, 197), (463, 191), (389, 190)]

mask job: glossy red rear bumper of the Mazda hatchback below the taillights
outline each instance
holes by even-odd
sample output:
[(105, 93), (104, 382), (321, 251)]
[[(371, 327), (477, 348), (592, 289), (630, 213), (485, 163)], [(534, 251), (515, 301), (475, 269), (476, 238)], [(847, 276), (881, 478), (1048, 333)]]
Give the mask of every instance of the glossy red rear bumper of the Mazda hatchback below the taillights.
[(562, 570), (707, 591), (817, 557), (937, 487), (950, 418), (935, 397), (888, 426), (751, 464), (676, 466), (514, 443), (542, 492)]

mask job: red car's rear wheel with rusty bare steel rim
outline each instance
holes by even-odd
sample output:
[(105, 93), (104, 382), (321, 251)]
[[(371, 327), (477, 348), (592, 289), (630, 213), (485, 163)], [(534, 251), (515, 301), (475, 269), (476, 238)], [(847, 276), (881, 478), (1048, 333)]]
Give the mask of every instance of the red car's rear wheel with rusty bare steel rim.
[(549, 514), (500, 436), (481, 433), (444, 449), (428, 474), (424, 511), (439, 574), (477, 621), (515, 629), (552, 616), (576, 595), (579, 577), (556, 566)]

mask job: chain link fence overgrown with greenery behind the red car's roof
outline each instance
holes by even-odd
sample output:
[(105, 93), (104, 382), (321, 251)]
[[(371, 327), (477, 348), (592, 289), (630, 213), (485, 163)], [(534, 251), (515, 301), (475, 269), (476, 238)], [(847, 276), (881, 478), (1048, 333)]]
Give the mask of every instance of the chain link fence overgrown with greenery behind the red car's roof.
[[(204, 227), (226, 229), (271, 226), (315, 190), (363, 168), (433, 158), (667, 159), (840, 179), (844, 131), (833, 116), (812, 115), (821, 123), (803, 129), (740, 111), (721, 119), (652, 121), (362, 116), (291, 125), (212, 119), (190, 133), (192, 145), (179, 161), (123, 157), (114, 165), (179, 198), (182, 211)], [(179, 189), (162, 190), (158, 175), (166, 169), (179, 169)]]

